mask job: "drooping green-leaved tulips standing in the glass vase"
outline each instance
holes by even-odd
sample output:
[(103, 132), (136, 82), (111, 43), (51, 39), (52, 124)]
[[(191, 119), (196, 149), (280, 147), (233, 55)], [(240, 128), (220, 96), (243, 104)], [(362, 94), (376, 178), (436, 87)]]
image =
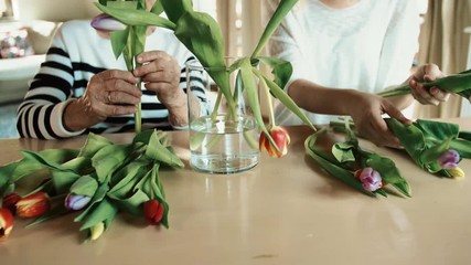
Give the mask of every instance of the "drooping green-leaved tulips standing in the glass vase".
[[(196, 56), (204, 67), (214, 70), (208, 71), (208, 75), (218, 86), (218, 95), (214, 108), (217, 109), (220, 107), (218, 105), (222, 103), (221, 98), (224, 97), (228, 107), (228, 117), (232, 118), (236, 117), (236, 99), (243, 95), (231, 91), (229, 75), (236, 68), (240, 68), (239, 74), (237, 74), (237, 83), (244, 87), (243, 93), (248, 98), (255, 119), (266, 140), (264, 140), (264, 144), (260, 144), (260, 149), (275, 149), (275, 152), (270, 152), (270, 155), (274, 153), (272, 156), (280, 157), (286, 152), (283, 151), (283, 147), (279, 146), (274, 139), (274, 135), (286, 131), (280, 130), (280, 127), (275, 124), (271, 95), (283, 103), (307, 125), (315, 129), (304, 113), (300, 110), (296, 103), (281, 88), (286, 85), (292, 73), (291, 64), (283, 60), (259, 55), (270, 35), (297, 1), (281, 0), (251, 55), (242, 57), (231, 65), (226, 65), (226, 54), (224, 52), (220, 24), (210, 14), (193, 10), (191, 0), (158, 0), (150, 12), (142, 8), (144, 7), (144, 0), (100, 0), (96, 6), (104, 12), (99, 17), (100, 20), (107, 18), (107, 20), (115, 20), (115, 22), (118, 22), (118, 24), (121, 23), (124, 26), (124, 30), (119, 30), (119, 26), (115, 26), (116, 23), (109, 23), (114, 25), (109, 30), (116, 30), (111, 32), (111, 45), (116, 56), (129, 50), (127, 49), (129, 40), (140, 40), (142, 42), (142, 39), (146, 38), (142, 32), (132, 35), (132, 29), (136, 26), (140, 29), (141, 26), (157, 25), (172, 30), (175, 36)], [(135, 4), (126, 2), (133, 2)], [(160, 17), (162, 12), (167, 14), (168, 19)], [(137, 46), (141, 47), (142, 45), (139, 44)], [(137, 54), (133, 53), (132, 55), (136, 56)], [(259, 71), (260, 63), (268, 65), (272, 70), (274, 80)], [(267, 96), (270, 112), (268, 126), (265, 125), (261, 116), (257, 82)], [(266, 142), (269, 145), (266, 145)]]

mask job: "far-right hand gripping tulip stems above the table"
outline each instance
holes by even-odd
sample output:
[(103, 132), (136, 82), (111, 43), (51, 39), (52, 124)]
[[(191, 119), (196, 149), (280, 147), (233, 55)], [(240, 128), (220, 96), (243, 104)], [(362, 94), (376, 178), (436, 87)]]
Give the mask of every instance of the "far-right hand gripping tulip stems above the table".
[(409, 86), (414, 98), (425, 105), (439, 105), (448, 100), (450, 93), (441, 91), (439, 87), (425, 87), (419, 82), (431, 82), (443, 76), (436, 64), (425, 64), (417, 68), (409, 78)]

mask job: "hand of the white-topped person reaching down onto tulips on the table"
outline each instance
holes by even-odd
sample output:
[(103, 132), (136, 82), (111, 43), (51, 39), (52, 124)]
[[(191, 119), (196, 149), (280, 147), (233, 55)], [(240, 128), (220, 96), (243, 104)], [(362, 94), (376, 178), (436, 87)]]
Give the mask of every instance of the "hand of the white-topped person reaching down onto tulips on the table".
[(360, 136), (377, 146), (402, 148), (399, 140), (388, 129), (382, 115), (387, 114), (403, 124), (410, 124), (411, 121), (386, 98), (363, 92), (356, 92), (354, 97), (351, 100), (350, 115)]

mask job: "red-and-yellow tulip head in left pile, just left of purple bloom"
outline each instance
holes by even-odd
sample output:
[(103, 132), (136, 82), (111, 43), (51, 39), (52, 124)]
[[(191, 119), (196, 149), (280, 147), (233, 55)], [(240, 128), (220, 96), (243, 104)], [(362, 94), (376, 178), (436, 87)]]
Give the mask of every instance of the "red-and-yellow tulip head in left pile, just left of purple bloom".
[(45, 192), (22, 198), (17, 202), (17, 214), (22, 218), (36, 218), (46, 213), (51, 209), (49, 195)]

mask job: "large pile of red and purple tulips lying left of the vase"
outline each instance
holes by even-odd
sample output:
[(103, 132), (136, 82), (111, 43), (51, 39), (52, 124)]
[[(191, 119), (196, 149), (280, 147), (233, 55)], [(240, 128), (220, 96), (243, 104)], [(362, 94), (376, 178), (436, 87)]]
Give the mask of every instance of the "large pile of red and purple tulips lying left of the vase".
[[(76, 213), (74, 221), (83, 222), (79, 230), (88, 231), (87, 240), (93, 241), (119, 211), (169, 226), (159, 169), (182, 168), (183, 162), (162, 131), (142, 131), (129, 145), (89, 134), (81, 149), (22, 153), (21, 160), (0, 167), (0, 237), (11, 232), (14, 215), (34, 218), (33, 225)], [(36, 186), (20, 193), (19, 182), (25, 179)]]

